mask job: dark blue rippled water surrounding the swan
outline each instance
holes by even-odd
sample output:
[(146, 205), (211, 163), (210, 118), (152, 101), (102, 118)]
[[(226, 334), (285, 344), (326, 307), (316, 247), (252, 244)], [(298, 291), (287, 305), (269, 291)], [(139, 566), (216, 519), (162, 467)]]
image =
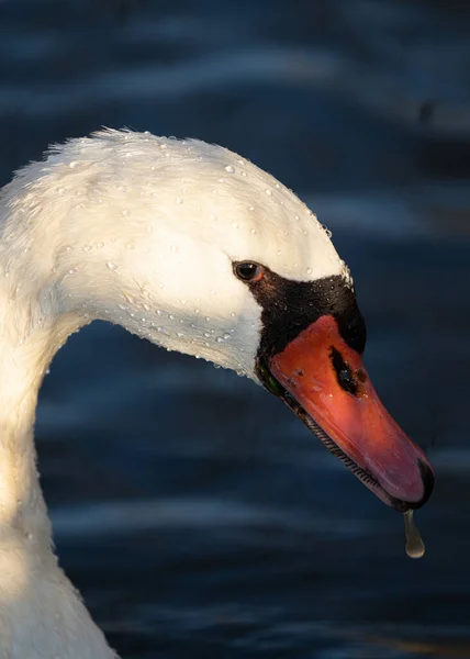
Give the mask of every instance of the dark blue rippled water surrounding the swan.
[(38, 411), (61, 563), (124, 658), (470, 657), (470, 9), (395, 0), (0, 3), (0, 179), (100, 125), (254, 159), (333, 230), (367, 367), (428, 450), (401, 515), (281, 404), (96, 324)]

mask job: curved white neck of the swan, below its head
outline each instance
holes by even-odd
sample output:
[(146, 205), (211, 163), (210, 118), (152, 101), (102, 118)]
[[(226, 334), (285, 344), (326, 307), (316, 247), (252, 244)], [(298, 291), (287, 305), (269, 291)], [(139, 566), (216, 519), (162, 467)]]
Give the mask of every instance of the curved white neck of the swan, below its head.
[(0, 287), (0, 658), (113, 659), (58, 567), (36, 470), (38, 390), (75, 325), (2, 293)]

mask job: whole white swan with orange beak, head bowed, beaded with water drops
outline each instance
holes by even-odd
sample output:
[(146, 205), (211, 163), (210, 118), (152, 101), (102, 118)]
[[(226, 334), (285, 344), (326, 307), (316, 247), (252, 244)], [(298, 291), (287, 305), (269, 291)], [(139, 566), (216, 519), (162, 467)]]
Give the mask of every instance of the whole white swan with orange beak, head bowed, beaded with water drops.
[(1, 191), (0, 305), (0, 659), (116, 657), (58, 566), (33, 438), (51, 360), (94, 320), (261, 384), (385, 504), (432, 492), (328, 233), (225, 148), (115, 130), (51, 148)]

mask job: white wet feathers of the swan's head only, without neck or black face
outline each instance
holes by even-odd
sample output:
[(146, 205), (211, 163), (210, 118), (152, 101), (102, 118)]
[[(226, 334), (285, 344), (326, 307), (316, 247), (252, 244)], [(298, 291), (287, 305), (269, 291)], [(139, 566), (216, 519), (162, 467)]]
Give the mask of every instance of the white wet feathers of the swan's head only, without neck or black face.
[[(327, 233), (290, 190), (202, 142), (120, 131), (74, 139), (23, 169), (5, 201), (4, 265), (21, 266), (23, 287), (43, 282), (45, 313), (49, 304), (55, 314), (86, 310), (169, 348), (186, 342), (184, 351), (247, 375), (259, 313), (233, 277), (233, 260), (304, 281), (347, 276)], [(178, 326), (171, 311), (199, 315), (197, 326)], [(231, 333), (231, 345), (246, 343), (246, 356), (220, 349)]]

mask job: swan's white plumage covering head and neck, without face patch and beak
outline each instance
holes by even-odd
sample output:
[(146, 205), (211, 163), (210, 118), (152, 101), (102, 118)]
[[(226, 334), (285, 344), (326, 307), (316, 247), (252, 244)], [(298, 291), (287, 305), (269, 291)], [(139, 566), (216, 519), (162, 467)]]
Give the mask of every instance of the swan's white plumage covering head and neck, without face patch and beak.
[(94, 319), (256, 379), (260, 308), (233, 260), (349, 279), (327, 233), (219, 146), (103, 131), (57, 146), (0, 198), (0, 659), (112, 651), (56, 567), (32, 427), (45, 369)]

